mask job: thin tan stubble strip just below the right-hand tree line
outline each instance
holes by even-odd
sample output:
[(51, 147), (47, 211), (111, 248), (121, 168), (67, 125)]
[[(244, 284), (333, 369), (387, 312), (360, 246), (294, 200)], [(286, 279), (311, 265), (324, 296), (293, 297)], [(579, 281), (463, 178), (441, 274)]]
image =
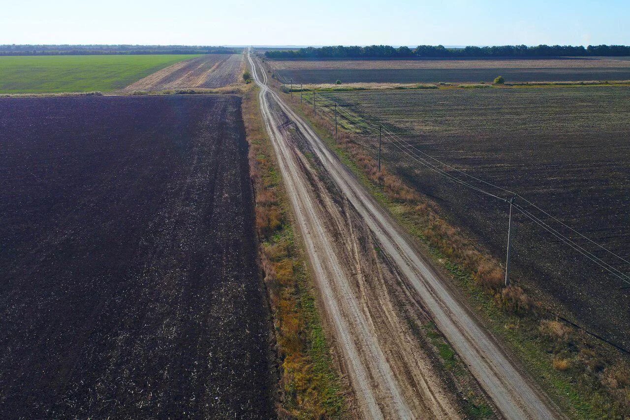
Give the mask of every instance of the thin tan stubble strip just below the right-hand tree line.
[(277, 60), (276, 70), (382, 70), (382, 69), (590, 69), (630, 67), (625, 57), (562, 59), (416, 59), (416, 60)]

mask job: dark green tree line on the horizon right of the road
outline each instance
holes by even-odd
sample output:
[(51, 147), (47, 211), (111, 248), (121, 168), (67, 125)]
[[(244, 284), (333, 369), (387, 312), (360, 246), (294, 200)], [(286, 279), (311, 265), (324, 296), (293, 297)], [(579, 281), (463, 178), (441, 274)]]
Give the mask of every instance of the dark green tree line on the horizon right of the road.
[(294, 50), (269, 50), (265, 56), (272, 59), (301, 58), (404, 58), (404, 57), (588, 57), (601, 55), (630, 55), (626, 45), (499, 45), (493, 47), (446, 48), (444, 45), (418, 45), (392, 47), (391, 45), (369, 45), (366, 47), (307, 47)]

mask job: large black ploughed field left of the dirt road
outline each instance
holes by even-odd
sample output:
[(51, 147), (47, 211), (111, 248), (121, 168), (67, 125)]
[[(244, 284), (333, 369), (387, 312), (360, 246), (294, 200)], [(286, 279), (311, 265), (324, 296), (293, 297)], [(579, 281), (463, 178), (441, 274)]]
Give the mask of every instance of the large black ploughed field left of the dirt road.
[(236, 96), (0, 100), (0, 417), (269, 418)]

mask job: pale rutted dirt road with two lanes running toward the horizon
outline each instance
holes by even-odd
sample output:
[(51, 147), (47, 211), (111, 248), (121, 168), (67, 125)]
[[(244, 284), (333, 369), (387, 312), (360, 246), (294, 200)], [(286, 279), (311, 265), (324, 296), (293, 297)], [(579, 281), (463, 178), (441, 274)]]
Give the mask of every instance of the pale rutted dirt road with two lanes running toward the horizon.
[[(392, 271), (408, 286), (410, 293), (396, 298), (419, 301), (503, 416), (514, 419), (561, 417), (466, 310), (386, 211), (326, 148), (311, 127), (266, 86), (266, 73), (260, 63), (252, 57), (248, 59), (256, 83), (261, 86), (263, 118), (311, 259), (324, 316), (335, 335), (336, 349), (352, 384), (360, 416), (409, 419), (453, 418), (460, 414), (442, 381), (423, 366), (423, 359), (404, 356), (413, 353), (414, 347), (410, 345), (411, 340), (402, 339), (403, 327), (398, 325), (400, 334), (392, 330), (392, 325), (398, 322), (392, 316), (394, 311), (388, 312), (385, 308), (381, 311), (389, 318), (373, 316), (380, 314), (370, 303), (387, 301), (381, 295), (387, 286), (371, 279), (361, 281), (361, 276), (357, 275), (365, 273), (365, 269), (352, 264), (355, 261), (360, 265), (362, 257), (358, 254), (362, 248), (354, 248), (354, 258), (348, 259), (345, 251), (352, 250), (352, 243), (360, 235), (355, 232), (343, 235), (353, 228), (351, 219), (343, 220), (343, 213), (350, 213), (347, 209), (343, 211), (345, 207), (351, 207), (357, 214), (391, 261)], [(335, 203), (326, 189), (319, 187), (317, 174), (309, 161), (281, 132), (280, 128), (286, 127), (287, 121), (295, 126), (326, 177), (341, 192), (341, 202)], [(386, 328), (382, 328), (383, 325)]]

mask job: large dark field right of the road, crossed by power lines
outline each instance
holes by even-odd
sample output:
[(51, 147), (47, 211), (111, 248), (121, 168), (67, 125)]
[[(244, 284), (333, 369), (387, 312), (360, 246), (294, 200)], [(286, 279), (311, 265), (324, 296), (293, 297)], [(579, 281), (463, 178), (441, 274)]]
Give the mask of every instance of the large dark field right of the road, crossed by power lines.
[[(355, 91), (328, 94), (382, 122), (414, 147), (475, 177), (515, 190), (630, 260), (630, 89)], [(375, 137), (367, 137), (372, 151)], [(505, 261), (508, 204), (430, 172), (384, 144), (386, 165), (437, 202), (456, 225)], [(446, 168), (447, 172), (458, 175)], [(481, 185), (507, 197), (501, 190)], [(517, 201), (518, 202), (518, 201)], [(524, 203), (521, 203), (524, 204)], [(618, 269), (630, 264), (560, 229)], [(563, 301), (582, 325), (630, 347), (630, 289), (522, 214), (512, 264)]]

